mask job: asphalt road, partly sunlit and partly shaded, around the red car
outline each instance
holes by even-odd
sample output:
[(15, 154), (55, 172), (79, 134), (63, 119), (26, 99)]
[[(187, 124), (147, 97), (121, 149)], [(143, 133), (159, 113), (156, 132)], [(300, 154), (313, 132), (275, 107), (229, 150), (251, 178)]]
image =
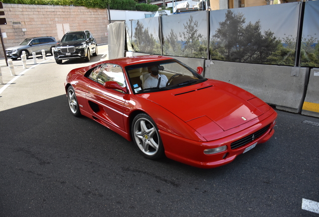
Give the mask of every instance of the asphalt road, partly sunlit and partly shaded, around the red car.
[(69, 111), (66, 74), (99, 53), (90, 63), (17, 61), (17, 76), (2, 67), (0, 216), (319, 216), (301, 208), (319, 202), (319, 119), (277, 111), (267, 143), (219, 168), (148, 160)]

